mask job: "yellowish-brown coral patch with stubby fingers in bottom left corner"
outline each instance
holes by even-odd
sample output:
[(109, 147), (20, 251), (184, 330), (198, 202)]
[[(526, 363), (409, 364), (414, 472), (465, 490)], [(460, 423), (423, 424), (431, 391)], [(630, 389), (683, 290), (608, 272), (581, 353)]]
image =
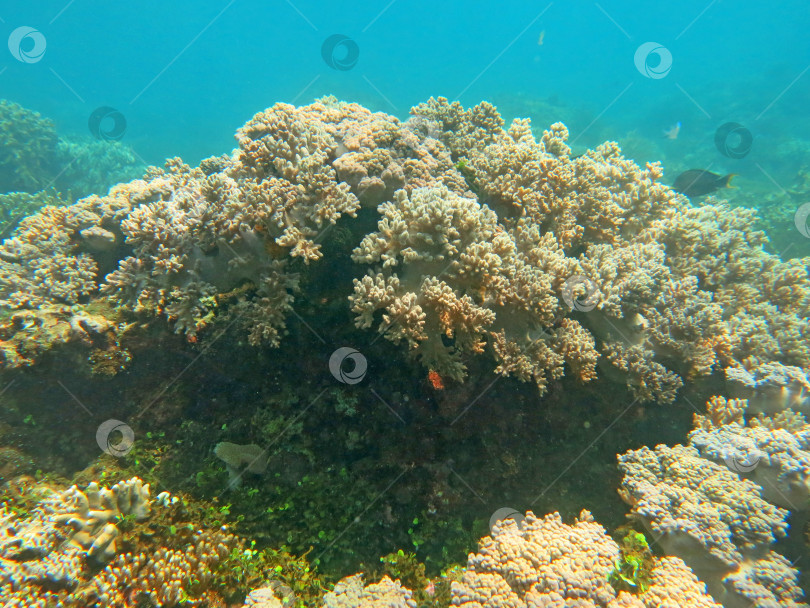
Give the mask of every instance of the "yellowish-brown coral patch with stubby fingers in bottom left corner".
[[(134, 542), (128, 531), (151, 519), (153, 509), (182, 508), (162, 493), (154, 502), (138, 478), (85, 491), (40, 488), (45, 498), (24, 514), (0, 508), (0, 594), (9, 608), (23, 606), (176, 606), (200, 602), (213, 589), (215, 570), (239, 551), (225, 530), (186, 530), (168, 546)], [(128, 550), (121, 551), (124, 539)], [(212, 596), (213, 597), (213, 596)]]

